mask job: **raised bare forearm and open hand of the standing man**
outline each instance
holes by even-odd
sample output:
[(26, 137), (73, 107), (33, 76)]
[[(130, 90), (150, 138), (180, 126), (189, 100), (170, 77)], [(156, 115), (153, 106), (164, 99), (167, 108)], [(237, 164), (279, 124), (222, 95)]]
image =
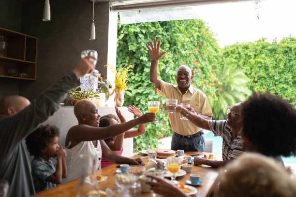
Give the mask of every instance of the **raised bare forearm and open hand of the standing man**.
[(154, 38), (154, 45), (152, 44), (152, 41), (150, 41), (150, 46), (146, 44), (150, 57), (151, 57), (151, 65), (150, 65), (150, 82), (152, 82), (158, 89), (161, 89), (161, 79), (158, 78), (157, 74), (157, 65), (158, 60), (166, 54), (166, 51), (163, 51), (163, 53), (159, 53), (161, 41), (159, 40), (158, 43), (156, 43), (156, 38)]

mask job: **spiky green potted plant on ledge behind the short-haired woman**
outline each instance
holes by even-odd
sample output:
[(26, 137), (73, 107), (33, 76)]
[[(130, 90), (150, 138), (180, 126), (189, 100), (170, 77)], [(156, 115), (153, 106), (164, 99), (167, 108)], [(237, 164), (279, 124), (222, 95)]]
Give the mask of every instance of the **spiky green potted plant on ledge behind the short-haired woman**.
[(75, 105), (78, 100), (82, 99), (93, 99), (93, 98), (100, 98), (100, 95), (97, 92), (93, 92), (93, 89), (90, 91), (83, 91), (81, 92), (78, 90), (80, 86), (77, 86), (71, 90), (71, 92), (67, 95), (66, 99), (71, 100), (71, 103)]

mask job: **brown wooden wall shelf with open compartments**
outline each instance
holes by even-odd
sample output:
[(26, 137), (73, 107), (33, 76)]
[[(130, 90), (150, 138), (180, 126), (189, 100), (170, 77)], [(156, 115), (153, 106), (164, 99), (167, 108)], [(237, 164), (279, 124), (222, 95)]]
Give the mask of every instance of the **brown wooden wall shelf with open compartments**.
[[(0, 77), (36, 80), (38, 39), (23, 33), (0, 28), (7, 41), (5, 56), (0, 56)], [(25, 73), (26, 77), (21, 77)]]

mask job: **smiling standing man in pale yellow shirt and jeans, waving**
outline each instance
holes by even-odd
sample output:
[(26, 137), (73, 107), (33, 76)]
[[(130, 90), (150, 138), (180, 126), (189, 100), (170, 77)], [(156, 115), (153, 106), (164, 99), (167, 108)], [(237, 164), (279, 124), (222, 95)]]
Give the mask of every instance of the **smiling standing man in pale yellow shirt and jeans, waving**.
[[(178, 99), (178, 104), (189, 103), (195, 113), (202, 114), (206, 119), (211, 119), (213, 113), (207, 96), (190, 84), (193, 75), (188, 66), (182, 65), (178, 68), (175, 76), (178, 85), (166, 83), (158, 78), (158, 60), (166, 54), (166, 51), (159, 53), (160, 45), (161, 41), (159, 40), (157, 43), (156, 38), (154, 38), (154, 44), (150, 42), (151, 48), (146, 44), (151, 57), (150, 81), (155, 85), (156, 93), (166, 99)], [(187, 115), (188, 113), (185, 114), (185, 116)], [(180, 113), (169, 113), (169, 121), (174, 130), (171, 149), (203, 152), (205, 148), (203, 129), (196, 127), (190, 121), (180, 120), (181, 117)]]

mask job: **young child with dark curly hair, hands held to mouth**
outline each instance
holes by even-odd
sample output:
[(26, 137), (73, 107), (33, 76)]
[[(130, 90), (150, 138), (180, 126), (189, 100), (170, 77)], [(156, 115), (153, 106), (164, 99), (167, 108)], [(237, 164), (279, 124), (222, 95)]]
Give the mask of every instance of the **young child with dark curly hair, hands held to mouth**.
[(34, 155), (31, 173), (36, 193), (59, 185), (67, 177), (67, 153), (58, 145), (59, 135), (58, 127), (46, 125), (26, 138), (29, 153)]

